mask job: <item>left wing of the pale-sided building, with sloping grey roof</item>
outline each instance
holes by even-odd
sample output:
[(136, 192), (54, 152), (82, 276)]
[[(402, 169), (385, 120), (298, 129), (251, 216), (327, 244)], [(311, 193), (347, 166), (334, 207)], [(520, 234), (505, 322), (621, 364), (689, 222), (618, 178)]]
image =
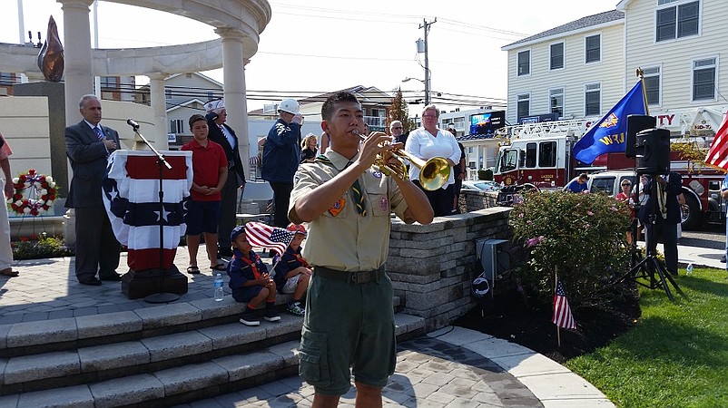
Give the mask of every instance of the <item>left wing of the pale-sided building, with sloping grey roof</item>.
[(601, 117), (626, 92), (624, 24), (624, 13), (611, 10), (504, 46), (507, 121)]

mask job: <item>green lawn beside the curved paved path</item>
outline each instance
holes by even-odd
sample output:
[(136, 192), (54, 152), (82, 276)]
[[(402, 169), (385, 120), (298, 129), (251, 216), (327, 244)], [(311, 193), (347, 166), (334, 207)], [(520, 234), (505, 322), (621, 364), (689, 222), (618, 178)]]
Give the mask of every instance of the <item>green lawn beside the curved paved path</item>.
[(566, 366), (619, 407), (728, 406), (728, 274), (684, 272), (686, 298), (641, 288), (635, 328)]

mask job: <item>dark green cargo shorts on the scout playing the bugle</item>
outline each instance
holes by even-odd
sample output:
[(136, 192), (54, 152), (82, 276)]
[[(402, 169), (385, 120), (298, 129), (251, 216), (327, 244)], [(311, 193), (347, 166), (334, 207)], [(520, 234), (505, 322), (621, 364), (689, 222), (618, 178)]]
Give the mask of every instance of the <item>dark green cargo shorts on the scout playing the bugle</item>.
[(387, 385), (397, 361), (392, 294), (386, 274), (359, 285), (311, 277), (299, 370), (316, 393), (347, 393), (352, 374), (361, 384)]

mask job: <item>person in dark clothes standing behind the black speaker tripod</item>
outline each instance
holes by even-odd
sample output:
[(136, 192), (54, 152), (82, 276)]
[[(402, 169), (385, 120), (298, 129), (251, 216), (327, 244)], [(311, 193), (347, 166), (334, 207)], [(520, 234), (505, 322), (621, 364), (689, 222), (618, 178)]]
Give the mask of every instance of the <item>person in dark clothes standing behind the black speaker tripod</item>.
[[(657, 195), (653, 197), (655, 182)], [(646, 229), (646, 241), (650, 244), (647, 250), (656, 254), (657, 240), (662, 238), (665, 267), (667, 272), (674, 276), (677, 276), (677, 224), (682, 221), (682, 211), (677, 196), (682, 192), (682, 186), (683, 177), (674, 171), (649, 177), (644, 185), (647, 199), (639, 214), (639, 219)]]

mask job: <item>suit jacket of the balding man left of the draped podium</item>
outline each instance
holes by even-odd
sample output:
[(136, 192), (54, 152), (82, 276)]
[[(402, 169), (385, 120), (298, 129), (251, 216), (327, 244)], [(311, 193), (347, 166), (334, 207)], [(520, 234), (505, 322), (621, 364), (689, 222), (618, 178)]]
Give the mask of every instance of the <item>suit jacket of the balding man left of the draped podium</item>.
[[(121, 146), (119, 133), (100, 125), (106, 139)], [(64, 131), (65, 155), (71, 160), (74, 177), (68, 189), (65, 207), (86, 208), (103, 206), (101, 182), (106, 177), (108, 154), (86, 121), (68, 126)]]

